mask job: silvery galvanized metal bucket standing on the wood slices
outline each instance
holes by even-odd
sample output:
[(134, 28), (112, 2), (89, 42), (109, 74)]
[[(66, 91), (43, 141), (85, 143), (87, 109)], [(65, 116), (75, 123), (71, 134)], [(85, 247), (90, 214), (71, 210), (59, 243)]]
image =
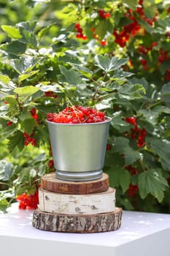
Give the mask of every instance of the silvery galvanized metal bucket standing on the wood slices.
[(47, 121), (56, 176), (65, 181), (101, 178), (109, 123), (58, 124)]

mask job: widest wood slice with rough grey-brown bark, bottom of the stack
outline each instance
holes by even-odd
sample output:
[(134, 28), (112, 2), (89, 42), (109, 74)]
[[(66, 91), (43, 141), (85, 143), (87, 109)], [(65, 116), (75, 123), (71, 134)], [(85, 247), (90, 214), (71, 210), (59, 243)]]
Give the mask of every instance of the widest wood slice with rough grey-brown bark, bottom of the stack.
[(105, 214), (53, 214), (36, 209), (33, 227), (39, 230), (66, 233), (99, 233), (117, 230), (121, 225), (122, 208)]

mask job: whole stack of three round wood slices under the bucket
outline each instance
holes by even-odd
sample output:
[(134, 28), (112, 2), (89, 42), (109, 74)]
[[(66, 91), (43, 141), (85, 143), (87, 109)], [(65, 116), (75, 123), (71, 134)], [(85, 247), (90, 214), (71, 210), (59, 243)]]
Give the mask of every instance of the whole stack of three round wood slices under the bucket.
[(106, 173), (96, 181), (78, 182), (61, 181), (49, 173), (41, 179), (32, 225), (47, 231), (96, 233), (117, 230), (121, 217)]

